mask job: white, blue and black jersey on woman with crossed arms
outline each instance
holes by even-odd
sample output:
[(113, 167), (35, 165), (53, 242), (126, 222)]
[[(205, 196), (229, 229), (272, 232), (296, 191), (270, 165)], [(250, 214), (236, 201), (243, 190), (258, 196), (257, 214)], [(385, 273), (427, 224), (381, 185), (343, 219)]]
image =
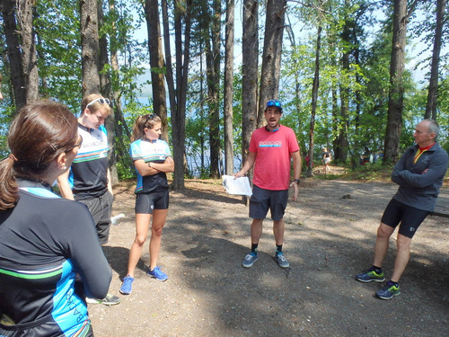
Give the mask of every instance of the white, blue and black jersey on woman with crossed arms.
[[(142, 159), (145, 163), (151, 162), (158, 164), (163, 164), (167, 157), (172, 156), (170, 147), (161, 139), (156, 139), (153, 142), (150, 142), (147, 139), (138, 139), (131, 143), (129, 154), (131, 155), (133, 161)], [(169, 188), (167, 175), (163, 172), (156, 173), (154, 175), (145, 175), (145, 177), (140, 175), (137, 170), (136, 173), (136, 194), (166, 191)]]

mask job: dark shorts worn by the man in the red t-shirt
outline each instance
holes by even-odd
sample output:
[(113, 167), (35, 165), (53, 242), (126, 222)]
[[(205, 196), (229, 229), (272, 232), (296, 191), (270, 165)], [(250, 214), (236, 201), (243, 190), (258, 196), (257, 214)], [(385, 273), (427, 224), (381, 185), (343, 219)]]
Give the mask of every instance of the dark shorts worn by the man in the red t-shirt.
[(250, 217), (265, 218), (269, 209), (274, 221), (281, 220), (286, 213), (288, 190), (271, 191), (260, 189), (254, 185), (250, 199)]

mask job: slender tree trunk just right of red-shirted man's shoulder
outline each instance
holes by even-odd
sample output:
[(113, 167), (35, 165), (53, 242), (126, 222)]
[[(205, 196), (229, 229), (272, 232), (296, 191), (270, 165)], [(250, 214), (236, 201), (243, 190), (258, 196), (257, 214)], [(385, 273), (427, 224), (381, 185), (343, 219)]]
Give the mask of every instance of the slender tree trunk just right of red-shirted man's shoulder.
[(315, 114), (316, 105), (318, 102), (318, 88), (320, 87), (320, 49), (321, 49), (321, 26), (318, 26), (318, 32), (316, 37), (316, 49), (315, 49), (315, 75), (313, 75), (313, 88), (312, 88), (312, 111), (310, 116), (310, 145), (309, 145), (309, 164), (307, 167), (307, 177), (313, 176), (313, 148), (314, 135), (315, 135)]

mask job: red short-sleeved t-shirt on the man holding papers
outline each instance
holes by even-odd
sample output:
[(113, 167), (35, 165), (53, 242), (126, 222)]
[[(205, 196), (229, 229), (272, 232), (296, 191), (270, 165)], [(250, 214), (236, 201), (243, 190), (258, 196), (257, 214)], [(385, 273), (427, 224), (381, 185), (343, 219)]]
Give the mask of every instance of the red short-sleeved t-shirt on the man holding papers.
[(256, 129), (251, 136), (250, 151), (257, 154), (252, 182), (264, 190), (288, 190), (290, 154), (299, 151), (294, 130), (283, 125), (274, 132)]

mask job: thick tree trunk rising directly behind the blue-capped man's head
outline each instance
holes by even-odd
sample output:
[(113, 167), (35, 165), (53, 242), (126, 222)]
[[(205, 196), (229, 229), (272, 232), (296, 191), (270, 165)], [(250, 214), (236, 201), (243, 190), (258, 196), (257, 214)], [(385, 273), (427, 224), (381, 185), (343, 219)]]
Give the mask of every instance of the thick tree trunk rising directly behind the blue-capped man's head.
[(286, 0), (268, 0), (263, 41), (262, 70), (260, 74), (260, 96), (258, 126), (262, 126), (263, 111), (267, 101), (279, 95), (282, 37), (286, 21)]

